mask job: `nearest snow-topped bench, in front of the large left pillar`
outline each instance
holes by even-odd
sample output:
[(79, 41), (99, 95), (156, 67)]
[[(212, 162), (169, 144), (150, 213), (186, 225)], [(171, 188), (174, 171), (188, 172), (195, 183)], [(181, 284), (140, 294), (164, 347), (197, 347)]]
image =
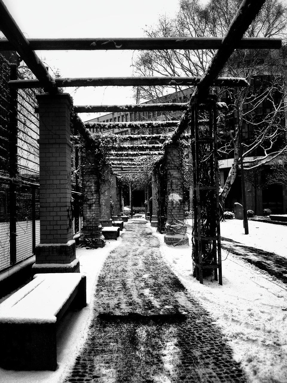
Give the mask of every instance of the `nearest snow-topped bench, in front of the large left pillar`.
[(55, 371), (57, 323), (69, 306), (86, 306), (85, 275), (36, 274), (0, 304), (0, 366)]

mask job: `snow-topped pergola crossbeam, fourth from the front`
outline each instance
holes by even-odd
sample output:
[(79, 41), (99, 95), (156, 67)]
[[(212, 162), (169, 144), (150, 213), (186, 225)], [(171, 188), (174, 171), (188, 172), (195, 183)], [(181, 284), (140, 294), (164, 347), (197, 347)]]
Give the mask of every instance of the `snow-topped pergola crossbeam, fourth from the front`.
[(86, 122), (88, 129), (174, 128), (179, 121)]

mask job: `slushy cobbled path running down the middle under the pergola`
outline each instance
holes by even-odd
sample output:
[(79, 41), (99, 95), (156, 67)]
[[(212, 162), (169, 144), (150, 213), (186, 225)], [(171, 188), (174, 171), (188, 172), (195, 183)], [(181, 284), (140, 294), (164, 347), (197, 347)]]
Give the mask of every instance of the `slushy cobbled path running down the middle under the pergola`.
[(163, 261), (145, 221), (125, 226), (66, 382), (245, 382), (222, 333)]

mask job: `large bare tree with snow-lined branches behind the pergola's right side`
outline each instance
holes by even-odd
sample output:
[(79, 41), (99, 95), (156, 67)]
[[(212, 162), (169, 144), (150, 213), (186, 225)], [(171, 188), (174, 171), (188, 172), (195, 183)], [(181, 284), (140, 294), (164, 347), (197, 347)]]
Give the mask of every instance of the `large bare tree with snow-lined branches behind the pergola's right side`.
[[(178, 14), (173, 19), (161, 16), (156, 28), (145, 31), (149, 37), (222, 37), (232, 21), (240, 0), (210, 0), (202, 5), (199, 0), (181, 0)], [(287, 27), (287, 7), (279, 0), (266, 0), (257, 18), (246, 32), (246, 37), (284, 37)], [(134, 62), (135, 71), (141, 75), (201, 76), (213, 56), (206, 50), (142, 51)], [(243, 157), (262, 157), (267, 163), (284, 152), (286, 87), (286, 49), (236, 50), (222, 75), (245, 77), (249, 88), (214, 88), (218, 100), (229, 106), (227, 131), (233, 131), (219, 140), (222, 158), (233, 156), (233, 165), (220, 192), (222, 204), (230, 191), (239, 169), (239, 135), (243, 135)], [(181, 91), (170, 87), (167, 92)], [(165, 95), (163, 87), (142, 87), (141, 95), (155, 100)], [(254, 161), (251, 165), (257, 167)]]

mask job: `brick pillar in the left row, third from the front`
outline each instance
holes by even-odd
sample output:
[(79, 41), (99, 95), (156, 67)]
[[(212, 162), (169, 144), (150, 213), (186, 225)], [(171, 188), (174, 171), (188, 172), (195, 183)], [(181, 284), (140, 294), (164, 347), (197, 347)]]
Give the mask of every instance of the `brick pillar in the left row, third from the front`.
[(105, 179), (101, 182), (99, 193), (100, 222), (104, 226), (113, 226), (111, 219), (111, 173), (105, 172)]

